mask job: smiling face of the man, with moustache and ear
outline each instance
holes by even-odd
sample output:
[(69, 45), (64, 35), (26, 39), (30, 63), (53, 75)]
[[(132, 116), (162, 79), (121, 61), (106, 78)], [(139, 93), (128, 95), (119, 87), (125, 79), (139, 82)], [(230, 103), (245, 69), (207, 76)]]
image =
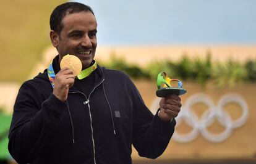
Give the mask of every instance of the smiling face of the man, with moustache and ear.
[(83, 69), (90, 66), (97, 47), (97, 22), (91, 12), (67, 14), (62, 20), (59, 35), (51, 31), (51, 41), (59, 52), (59, 62), (64, 55), (79, 57)]

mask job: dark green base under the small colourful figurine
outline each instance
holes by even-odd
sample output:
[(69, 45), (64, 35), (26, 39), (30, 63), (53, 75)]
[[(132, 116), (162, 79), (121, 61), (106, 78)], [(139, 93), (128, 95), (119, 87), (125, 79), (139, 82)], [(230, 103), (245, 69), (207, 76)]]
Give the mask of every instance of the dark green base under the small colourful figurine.
[(185, 94), (187, 92), (186, 89), (176, 88), (176, 87), (167, 87), (160, 88), (156, 91), (156, 96), (158, 97), (168, 97), (170, 94), (177, 94), (178, 96), (181, 94)]

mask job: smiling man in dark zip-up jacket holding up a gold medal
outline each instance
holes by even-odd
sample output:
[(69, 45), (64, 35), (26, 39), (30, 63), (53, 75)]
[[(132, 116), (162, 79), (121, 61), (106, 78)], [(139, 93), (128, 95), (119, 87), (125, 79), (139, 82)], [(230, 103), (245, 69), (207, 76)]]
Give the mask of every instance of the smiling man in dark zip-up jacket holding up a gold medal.
[[(132, 144), (142, 157), (160, 156), (181, 99), (161, 99), (153, 115), (126, 74), (96, 65), (97, 23), (89, 6), (61, 4), (50, 27), (59, 54), (20, 87), (9, 131), (12, 157), (19, 163), (130, 164)], [(81, 75), (60, 68), (67, 54), (82, 62)]]

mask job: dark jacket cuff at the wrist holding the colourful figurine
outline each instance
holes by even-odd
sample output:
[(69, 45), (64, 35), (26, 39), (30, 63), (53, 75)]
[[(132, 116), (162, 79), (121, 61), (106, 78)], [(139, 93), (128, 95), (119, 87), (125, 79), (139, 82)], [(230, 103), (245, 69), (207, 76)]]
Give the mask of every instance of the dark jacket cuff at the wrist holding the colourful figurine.
[(158, 131), (158, 133), (160, 133), (161, 135), (173, 134), (174, 127), (176, 125), (175, 118), (173, 118), (171, 122), (162, 121), (160, 117), (158, 117), (159, 111), (160, 109), (158, 109), (158, 111), (156, 112), (156, 115), (153, 120), (154, 129)]

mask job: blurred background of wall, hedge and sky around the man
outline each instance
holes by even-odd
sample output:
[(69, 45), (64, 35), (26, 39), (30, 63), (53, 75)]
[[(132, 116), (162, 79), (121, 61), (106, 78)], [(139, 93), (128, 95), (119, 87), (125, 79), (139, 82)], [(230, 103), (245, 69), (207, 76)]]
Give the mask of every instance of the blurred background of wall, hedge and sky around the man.
[[(58, 53), (49, 15), (66, 1), (2, 1), (0, 6), (0, 163), (15, 96)], [(79, 1), (98, 22), (96, 60), (129, 74), (155, 114), (156, 76), (187, 89), (176, 133), (161, 157), (134, 163), (256, 163), (256, 1)]]

